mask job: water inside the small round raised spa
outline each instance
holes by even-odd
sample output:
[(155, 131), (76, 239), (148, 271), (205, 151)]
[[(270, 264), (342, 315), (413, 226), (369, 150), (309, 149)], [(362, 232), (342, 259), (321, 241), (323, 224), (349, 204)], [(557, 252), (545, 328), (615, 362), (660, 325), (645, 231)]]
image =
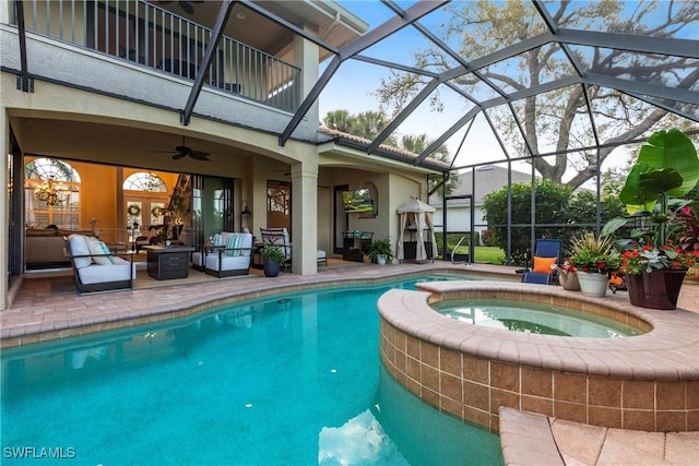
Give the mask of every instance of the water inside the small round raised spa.
[(643, 333), (602, 315), (533, 302), (453, 299), (435, 302), (431, 308), (458, 321), (514, 332), (591, 338), (624, 338)]

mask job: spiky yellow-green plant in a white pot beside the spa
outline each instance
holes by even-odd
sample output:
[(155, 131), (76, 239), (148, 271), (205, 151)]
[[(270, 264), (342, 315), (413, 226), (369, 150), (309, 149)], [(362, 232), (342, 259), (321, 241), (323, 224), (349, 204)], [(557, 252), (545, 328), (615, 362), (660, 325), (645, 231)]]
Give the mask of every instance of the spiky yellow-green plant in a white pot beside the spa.
[(569, 262), (577, 271), (582, 294), (603, 297), (607, 294), (608, 274), (619, 268), (620, 254), (612, 238), (588, 232), (571, 240)]

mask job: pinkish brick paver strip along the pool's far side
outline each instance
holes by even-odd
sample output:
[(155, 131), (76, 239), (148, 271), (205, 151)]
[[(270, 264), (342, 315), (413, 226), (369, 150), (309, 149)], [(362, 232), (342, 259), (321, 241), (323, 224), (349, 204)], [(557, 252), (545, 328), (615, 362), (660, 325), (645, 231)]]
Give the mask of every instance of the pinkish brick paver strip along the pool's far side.
[(330, 285), (379, 285), (399, 277), (418, 277), (430, 273), (514, 278), (510, 274), (496, 272), (494, 267), (483, 268), (464, 270), (463, 266), (440, 262), (422, 264), (419, 267), (369, 265), (362, 267), (362, 271), (352, 267), (312, 276), (282, 274), (273, 279), (258, 277), (250, 280), (239, 277), (196, 285), (71, 295), (70, 300), (52, 302), (40, 309), (11, 308), (0, 312), (0, 349), (186, 318), (238, 300)]

